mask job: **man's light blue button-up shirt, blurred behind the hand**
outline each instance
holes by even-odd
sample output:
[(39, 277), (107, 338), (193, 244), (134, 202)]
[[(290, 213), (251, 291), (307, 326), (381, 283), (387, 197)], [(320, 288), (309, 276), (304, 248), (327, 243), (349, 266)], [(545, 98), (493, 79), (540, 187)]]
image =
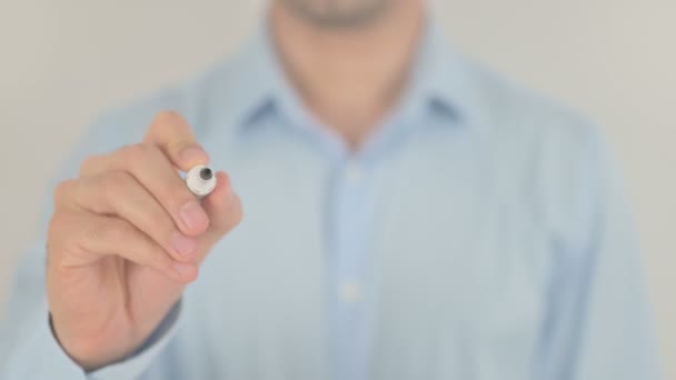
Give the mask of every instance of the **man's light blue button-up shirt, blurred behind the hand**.
[(111, 112), (68, 166), (140, 141), (173, 109), (231, 174), (245, 222), (160, 328), (86, 374), (49, 328), (38, 242), (0, 378), (658, 378), (635, 229), (596, 127), (430, 26), (399, 107), (351, 153), (272, 51), (261, 31), (199, 79)]

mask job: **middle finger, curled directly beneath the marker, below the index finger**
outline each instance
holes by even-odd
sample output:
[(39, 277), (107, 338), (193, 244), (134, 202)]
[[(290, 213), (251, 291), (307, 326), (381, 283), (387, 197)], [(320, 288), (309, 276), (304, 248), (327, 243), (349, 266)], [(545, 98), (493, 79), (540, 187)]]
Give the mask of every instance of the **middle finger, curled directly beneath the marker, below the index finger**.
[(89, 177), (109, 171), (131, 173), (169, 212), (182, 233), (195, 237), (207, 230), (207, 213), (157, 147), (133, 144), (108, 156), (89, 158), (80, 174)]

